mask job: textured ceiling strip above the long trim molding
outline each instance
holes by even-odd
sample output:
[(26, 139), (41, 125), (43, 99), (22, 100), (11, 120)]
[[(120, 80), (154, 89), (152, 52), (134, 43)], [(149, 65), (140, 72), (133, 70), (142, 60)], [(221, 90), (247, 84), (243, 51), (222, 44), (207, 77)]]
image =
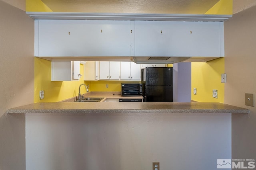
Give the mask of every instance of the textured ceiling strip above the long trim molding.
[(219, 0), (42, 0), (53, 12), (204, 14)]

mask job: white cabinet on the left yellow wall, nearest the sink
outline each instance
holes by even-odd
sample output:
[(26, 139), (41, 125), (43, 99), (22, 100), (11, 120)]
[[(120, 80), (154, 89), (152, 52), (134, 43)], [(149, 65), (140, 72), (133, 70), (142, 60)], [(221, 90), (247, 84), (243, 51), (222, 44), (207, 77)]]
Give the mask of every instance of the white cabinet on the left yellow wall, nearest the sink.
[[(76, 81), (80, 78), (80, 61), (52, 61), (52, 81)], [(74, 70), (76, 75), (74, 74)]]

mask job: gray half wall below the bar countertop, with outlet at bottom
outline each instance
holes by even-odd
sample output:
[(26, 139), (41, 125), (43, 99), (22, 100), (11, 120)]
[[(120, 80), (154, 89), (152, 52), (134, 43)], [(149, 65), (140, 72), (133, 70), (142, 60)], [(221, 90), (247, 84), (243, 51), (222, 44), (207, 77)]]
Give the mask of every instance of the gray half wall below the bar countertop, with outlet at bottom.
[(231, 113), (26, 115), (27, 170), (216, 170)]

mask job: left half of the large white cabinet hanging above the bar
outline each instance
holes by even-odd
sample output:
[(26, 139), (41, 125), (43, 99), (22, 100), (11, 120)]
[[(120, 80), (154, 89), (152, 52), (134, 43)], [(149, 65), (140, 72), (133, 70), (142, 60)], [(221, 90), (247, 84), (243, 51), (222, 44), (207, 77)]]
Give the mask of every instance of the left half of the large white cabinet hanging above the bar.
[(39, 20), (35, 24), (35, 56), (130, 56), (130, 21)]

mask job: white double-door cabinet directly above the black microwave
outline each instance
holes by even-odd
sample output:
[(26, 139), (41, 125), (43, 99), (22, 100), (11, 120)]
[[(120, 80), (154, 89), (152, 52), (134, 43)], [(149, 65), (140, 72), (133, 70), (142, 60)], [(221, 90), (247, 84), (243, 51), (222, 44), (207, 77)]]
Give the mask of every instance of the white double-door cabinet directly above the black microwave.
[(121, 62), (120, 80), (140, 80), (140, 64)]

